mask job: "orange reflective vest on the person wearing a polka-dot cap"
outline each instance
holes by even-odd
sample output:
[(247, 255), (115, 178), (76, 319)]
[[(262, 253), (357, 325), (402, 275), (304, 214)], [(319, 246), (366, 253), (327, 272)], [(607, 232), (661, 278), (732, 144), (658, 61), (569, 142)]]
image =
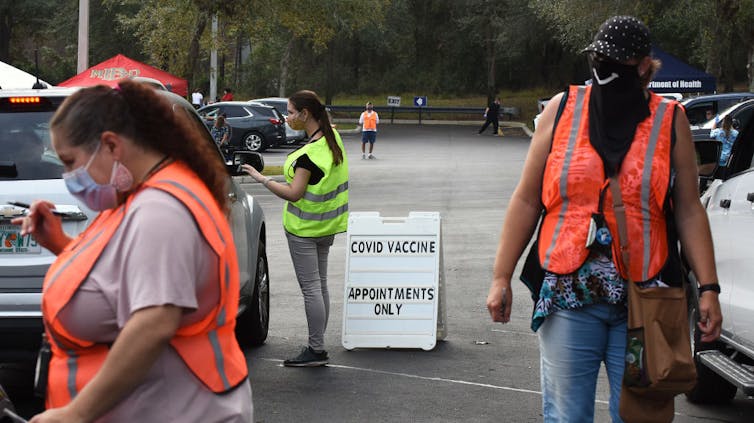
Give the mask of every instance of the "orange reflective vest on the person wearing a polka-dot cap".
[(621, 276), (646, 281), (668, 257), (664, 204), (670, 184), (671, 134), (676, 102), (650, 94), (650, 116), (636, 128), (618, 173), (628, 226), (631, 268), (620, 260), (618, 227), (602, 159), (589, 142), (591, 87), (572, 86), (555, 128), (542, 180), (545, 217), (539, 233), (542, 268), (560, 275), (575, 272), (586, 261), (586, 241), (593, 213), (603, 212), (613, 234), (613, 261)]

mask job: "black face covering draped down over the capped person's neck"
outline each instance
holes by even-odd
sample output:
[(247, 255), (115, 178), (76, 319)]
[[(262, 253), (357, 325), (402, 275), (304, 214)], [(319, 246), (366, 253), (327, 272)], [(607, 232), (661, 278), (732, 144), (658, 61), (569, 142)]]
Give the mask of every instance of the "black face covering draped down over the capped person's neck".
[(649, 116), (649, 102), (636, 66), (590, 58), (589, 139), (615, 175), (631, 147), (636, 126)]

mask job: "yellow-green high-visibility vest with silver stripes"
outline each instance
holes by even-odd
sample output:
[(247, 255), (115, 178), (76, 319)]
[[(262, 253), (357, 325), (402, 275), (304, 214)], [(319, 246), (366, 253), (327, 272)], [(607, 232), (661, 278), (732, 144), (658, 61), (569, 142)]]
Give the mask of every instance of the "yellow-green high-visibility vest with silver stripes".
[(304, 196), (296, 202), (287, 201), (283, 208), (283, 227), (293, 235), (312, 238), (345, 232), (348, 228), (348, 159), (340, 134), (333, 130), (343, 152), (343, 161), (335, 165), (325, 137), (304, 145), (291, 153), (283, 165), (288, 183), (293, 181), (294, 165), (306, 154), (325, 176), (314, 185), (307, 185)]

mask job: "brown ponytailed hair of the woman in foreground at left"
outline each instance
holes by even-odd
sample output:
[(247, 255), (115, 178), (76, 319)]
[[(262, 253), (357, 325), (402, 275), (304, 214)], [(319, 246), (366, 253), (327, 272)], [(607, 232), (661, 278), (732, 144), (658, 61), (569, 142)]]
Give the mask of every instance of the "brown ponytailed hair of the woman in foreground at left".
[(83, 88), (68, 97), (50, 121), (74, 146), (94, 151), (105, 131), (124, 135), (138, 146), (180, 160), (204, 182), (223, 211), (228, 209), (227, 171), (214, 144), (182, 108), (140, 82), (123, 80), (113, 89)]

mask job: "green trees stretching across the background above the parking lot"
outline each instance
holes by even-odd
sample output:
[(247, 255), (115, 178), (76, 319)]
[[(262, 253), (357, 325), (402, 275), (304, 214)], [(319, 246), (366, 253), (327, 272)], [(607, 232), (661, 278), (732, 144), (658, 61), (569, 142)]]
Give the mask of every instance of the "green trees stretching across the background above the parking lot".
[[(752, 0), (90, 3), (92, 64), (123, 53), (206, 92), (216, 48), (218, 88), (233, 87), (238, 98), (300, 89), (328, 102), (384, 93), (485, 100), (532, 87), (556, 92), (588, 78), (579, 52), (615, 14), (642, 19), (658, 46), (719, 75), (720, 90), (754, 79), (747, 75), (750, 62), (754, 68)], [(0, 59), (29, 70), (38, 49), (41, 77), (67, 79), (75, 74), (77, 22), (78, 0), (0, 0)]]

